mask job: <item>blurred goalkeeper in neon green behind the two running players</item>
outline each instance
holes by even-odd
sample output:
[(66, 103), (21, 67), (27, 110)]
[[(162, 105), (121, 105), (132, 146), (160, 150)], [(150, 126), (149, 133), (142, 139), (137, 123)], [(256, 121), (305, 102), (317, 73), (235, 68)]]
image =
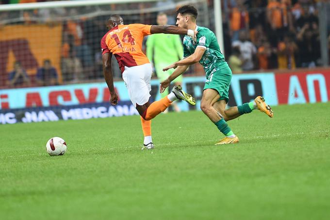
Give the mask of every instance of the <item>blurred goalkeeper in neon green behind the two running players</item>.
[[(167, 25), (167, 15), (160, 12), (157, 15), (158, 25)], [(164, 67), (181, 60), (183, 55), (183, 47), (180, 36), (177, 34), (152, 34), (147, 40), (147, 57), (155, 68), (158, 79), (162, 82), (167, 79), (174, 69), (163, 71)], [(175, 85), (181, 85), (182, 75), (172, 81)], [(168, 88), (161, 93), (161, 98), (168, 95)], [(180, 112), (180, 108), (176, 102), (172, 103), (176, 112)], [(167, 109), (166, 109), (167, 110)]]

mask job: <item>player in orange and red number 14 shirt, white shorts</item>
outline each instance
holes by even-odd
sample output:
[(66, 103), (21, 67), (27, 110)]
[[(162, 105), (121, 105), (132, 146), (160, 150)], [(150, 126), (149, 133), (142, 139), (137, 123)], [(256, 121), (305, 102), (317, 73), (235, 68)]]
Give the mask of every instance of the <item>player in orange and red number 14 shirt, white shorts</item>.
[(151, 119), (164, 112), (177, 99), (193, 105), (196, 102), (191, 95), (182, 91), (181, 86), (175, 86), (166, 97), (150, 103), (152, 68), (147, 56), (142, 52), (143, 37), (149, 34), (164, 33), (187, 34), (196, 38), (197, 31), (167, 25), (124, 25), (123, 18), (119, 15), (109, 18), (107, 28), (109, 31), (101, 39), (101, 48), (103, 75), (111, 94), (110, 102), (112, 105), (116, 105), (118, 102), (111, 70), (111, 56), (115, 55), (132, 104), (141, 115), (142, 130), (145, 136), (144, 148), (152, 149), (154, 146), (151, 138)]

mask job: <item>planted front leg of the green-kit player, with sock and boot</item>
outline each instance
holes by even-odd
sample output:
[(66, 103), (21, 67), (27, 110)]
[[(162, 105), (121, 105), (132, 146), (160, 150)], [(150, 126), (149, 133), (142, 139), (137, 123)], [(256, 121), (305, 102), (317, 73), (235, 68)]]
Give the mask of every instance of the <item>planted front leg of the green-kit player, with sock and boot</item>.
[(207, 115), (210, 120), (212, 120), (219, 131), (226, 136), (217, 144), (238, 143), (238, 137), (231, 131), (231, 128), (228, 126), (224, 117), (213, 107), (214, 103), (219, 99), (220, 95), (218, 91), (211, 88), (205, 89), (203, 92), (202, 100), (200, 102), (200, 108), (204, 114)]

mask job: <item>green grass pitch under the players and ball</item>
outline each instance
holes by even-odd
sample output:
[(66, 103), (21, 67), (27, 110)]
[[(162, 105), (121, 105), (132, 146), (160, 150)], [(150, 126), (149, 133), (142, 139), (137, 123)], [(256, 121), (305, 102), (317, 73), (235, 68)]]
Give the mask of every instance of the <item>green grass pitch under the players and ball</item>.
[(227, 146), (202, 112), (162, 114), (151, 151), (138, 116), (1, 125), (0, 219), (329, 219), (330, 103), (273, 109)]

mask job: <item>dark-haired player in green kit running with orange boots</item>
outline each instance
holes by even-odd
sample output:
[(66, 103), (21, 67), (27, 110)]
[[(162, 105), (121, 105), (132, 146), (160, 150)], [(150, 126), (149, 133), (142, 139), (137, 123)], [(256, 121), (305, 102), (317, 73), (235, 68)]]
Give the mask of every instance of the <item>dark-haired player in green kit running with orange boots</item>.
[(211, 119), (219, 131), (226, 136), (217, 144), (238, 143), (238, 137), (231, 131), (226, 121), (250, 113), (254, 109), (259, 109), (269, 117), (273, 117), (273, 111), (264, 102), (264, 98), (260, 96), (252, 102), (226, 110), (226, 104), (229, 101), (228, 93), (232, 73), (220, 51), (214, 33), (208, 28), (196, 25), (198, 13), (194, 6), (182, 6), (176, 14), (177, 25), (179, 27), (198, 31), (197, 40), (195, 41), (187, 35), (184, 36), (183, 56), (185, 58), (163, 69), (165, 71), (175, 68), (175, 71), (165, 81), (161, 82), (160, 90), (162, 92), (171, 81), (181, 75), (190, 65), (199, 62), (206, 74), (200, 108)]

